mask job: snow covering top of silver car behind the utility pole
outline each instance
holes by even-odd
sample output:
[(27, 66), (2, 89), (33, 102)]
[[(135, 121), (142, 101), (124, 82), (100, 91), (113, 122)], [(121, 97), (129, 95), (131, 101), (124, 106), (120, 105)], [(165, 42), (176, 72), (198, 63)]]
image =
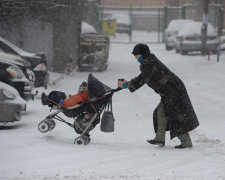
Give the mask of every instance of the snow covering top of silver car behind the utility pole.
[[(202, 22), (188, 22), (178, 32), (178, 36), (192, 36), (192, 35), (201, 35)], [(207, 26), (207, 35), (216, 36), (216, 29), (212, 24), (208, 23)]]

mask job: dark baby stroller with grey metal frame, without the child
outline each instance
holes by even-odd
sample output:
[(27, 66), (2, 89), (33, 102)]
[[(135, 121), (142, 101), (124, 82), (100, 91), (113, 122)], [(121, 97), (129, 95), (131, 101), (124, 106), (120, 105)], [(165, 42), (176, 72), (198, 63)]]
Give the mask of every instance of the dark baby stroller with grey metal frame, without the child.
[[(101, 119), (101, 130), (103, 132), (113, 132), (114, 118), (112, 114), (112, 95), (114, 92), (121, 90), (121, 88), (111, 89), (101, 83), (92, 74), (88, 76), (87, 85), (88, 100), (74, 108), (59, 107), (58, 103), (48, 99), (48, 96), (45, 94), (42, 94), (42, 104), (48, 105), (51, 109), (57, 109), (57, 111), (42, 120), (38, 125), (38, 130), (42, 133), (46, 133), (55, 128), (56, 123), (54, 120), (61, 121), (72, 127), (76, 133), (80, 134), (80, 136), (74, 140), (74, 144), (87, 145), (91, 141), (89, 132), (100, 122), (101, 114), (105, 110)], [(65, 95), (62, 94), (62, 96)], [(59, 116), (60, 113), (63, 113), (69, 118), (73, 118), (74, 122), (67, 122)]]

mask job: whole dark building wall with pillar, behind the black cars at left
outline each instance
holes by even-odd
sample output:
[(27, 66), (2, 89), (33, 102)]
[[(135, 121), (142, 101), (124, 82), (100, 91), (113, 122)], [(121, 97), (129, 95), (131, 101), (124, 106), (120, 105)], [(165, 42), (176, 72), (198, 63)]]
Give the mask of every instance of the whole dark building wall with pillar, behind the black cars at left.
[(1, 0), (0, 36), (26, 51), (44, 52), (53, 71), (64, 72), (67, 65), (73, 69), (79, 52), (80, 5), (79, 0)]

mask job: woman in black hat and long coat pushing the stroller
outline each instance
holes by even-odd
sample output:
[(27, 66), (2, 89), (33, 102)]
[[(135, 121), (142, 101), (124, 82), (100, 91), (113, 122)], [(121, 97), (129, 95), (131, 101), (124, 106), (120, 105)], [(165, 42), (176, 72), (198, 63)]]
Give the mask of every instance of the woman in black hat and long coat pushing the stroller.
[(184, 83), (151, 54), (146, 44), (137, 44), (132, 54), (140, 63), (141, 73), (130, 81), (119, 80), (118, 87), (134, 92), (147, 84), (161, 96), (161, 101), (153, 113), (156, 135), (147, 142), (163, 147), (166, 131), (169, 130), (171, 139), (178, 137), (181, 141), (175, 148), (192, 147), (188, 132), (195, 129), (199, 122)]

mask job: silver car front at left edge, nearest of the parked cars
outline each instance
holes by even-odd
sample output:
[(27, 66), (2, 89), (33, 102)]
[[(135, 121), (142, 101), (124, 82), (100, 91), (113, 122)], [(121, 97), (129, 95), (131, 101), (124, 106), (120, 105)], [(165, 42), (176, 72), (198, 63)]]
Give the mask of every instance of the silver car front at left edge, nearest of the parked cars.
[(26, 102), (17, 90), (0, 82), (0, 123), (21, 120), (20, 113), (26, 111)]

